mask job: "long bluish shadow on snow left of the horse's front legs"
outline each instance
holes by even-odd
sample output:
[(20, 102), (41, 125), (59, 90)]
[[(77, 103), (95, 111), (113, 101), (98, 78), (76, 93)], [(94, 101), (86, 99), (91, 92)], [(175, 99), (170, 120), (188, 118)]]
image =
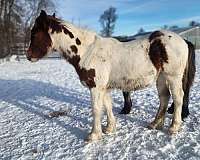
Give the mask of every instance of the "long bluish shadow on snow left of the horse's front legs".
[[(41, 103), (41, 98), (48, 98), (54, 102), (68, 103), (73, 109), (80, 109), (81, 107), (90, 107), (90, 98), (84, 98), (85, 94), (82, 92), (75, 91), (71, 88), (62, 88), (51, 83), (44, 83), (41, 81), (35, 81), (30, 79), (21, 80), (3, 80), (0, 79), (0, 101), (7, 102), (15, 105), (16, 107), (22, 108), (30, 113), (36, 114), (41, 118), (54, 121), (57, 125), (63, 127), (66, 131), (71, 132), (78, 139), (84, 139), (86, 131), (78, 127), (73, 127), (70, 124), (65, 123), (58, 118), (51, 119), (47, 114), (54, 112), (56, 109), (52, 109), (49, 104)], [(38, 102), (38, 100), (40, 102)], [(55, 104), (50, 104), (55, 105)], [(76, 107), (76, 108), (74, 108)], [(55, 107), (54, 107), (55, 108)], [(67, 114), (66, 116), (81, 121), (84, 125), (88, 124), (88, 117), (80, 118)]]

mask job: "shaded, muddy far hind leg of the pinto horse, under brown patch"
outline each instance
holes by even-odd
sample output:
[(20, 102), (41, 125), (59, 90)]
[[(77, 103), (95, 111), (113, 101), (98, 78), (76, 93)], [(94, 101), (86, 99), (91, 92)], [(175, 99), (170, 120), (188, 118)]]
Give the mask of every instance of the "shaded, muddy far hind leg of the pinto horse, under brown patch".
[(165, 113), (167, 111), (167, 105), (170, 98), (170, 92), (166, 84), (166, 79), (162, 74), (158, 77), (156, 86), (158, 90), (160, 106), (155, 120), (148, 127), (151, 129), (162, 129), (165, 120)]

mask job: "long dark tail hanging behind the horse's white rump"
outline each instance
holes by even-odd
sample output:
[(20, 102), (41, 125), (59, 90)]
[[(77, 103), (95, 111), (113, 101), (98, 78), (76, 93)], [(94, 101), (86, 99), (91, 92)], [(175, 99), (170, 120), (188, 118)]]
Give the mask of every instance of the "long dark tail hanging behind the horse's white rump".
[(188, 45), (188, 60), (187, 60), (187, 65), (186, 65), (185, 72), (183, 75), (183, 80), (182, 80), (183, 91), (184, 91), (182, 119), (186, 118), (189, 115), (189, 109), (188, 109), (189, 93), (190, 93), (190, 87), (192, 86), (195, 72), (196, 72), (195, 47), (191, 42), (187, 40), (185, 40), (185, 42)]

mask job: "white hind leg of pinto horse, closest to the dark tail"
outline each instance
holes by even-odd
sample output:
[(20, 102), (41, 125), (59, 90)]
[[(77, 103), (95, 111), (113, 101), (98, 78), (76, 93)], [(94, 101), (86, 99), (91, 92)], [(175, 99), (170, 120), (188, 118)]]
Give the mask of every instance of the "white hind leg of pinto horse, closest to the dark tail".
[(182, 88), (182, 76), (176, 76), (176, 77), (169, 76), (168, 82), (172, 93), (172, 99), (174, 101), (173, 120), (169, 128), (169, 133), (175, 134), (180, 130), (182, 123), (181, 112), (182, 112), (183, 96), (184, 96)]

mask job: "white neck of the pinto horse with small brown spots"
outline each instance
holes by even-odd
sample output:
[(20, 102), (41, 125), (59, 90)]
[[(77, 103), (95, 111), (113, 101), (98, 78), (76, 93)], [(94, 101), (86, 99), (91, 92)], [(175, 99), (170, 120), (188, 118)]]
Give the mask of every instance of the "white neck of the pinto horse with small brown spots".
[(80, 56), (82, 57), (88, 50), (89, 46), (94, 42), (96, 34), (78, 27), (72, 24), (65, 24), (63, 26), (71, 32), (73, 36), (69, 33), (63, 32), (54, 35), (54, 48), (59, 50), (61, 54), (69, 54), (67, 56)]

